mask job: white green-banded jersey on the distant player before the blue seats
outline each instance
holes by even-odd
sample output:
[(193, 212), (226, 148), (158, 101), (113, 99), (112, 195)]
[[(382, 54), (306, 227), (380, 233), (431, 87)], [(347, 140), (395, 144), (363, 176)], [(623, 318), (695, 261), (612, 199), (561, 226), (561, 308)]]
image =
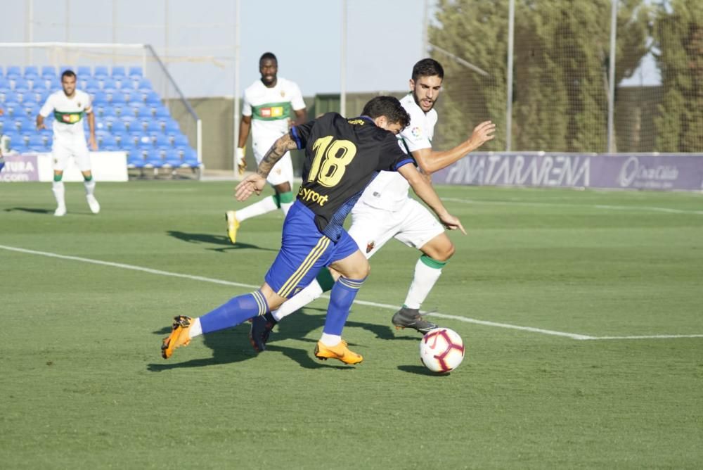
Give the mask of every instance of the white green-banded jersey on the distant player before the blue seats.
[(92, 112), (90, 95), (81, 90), (76, 90), (70, 98), (63, 90), (55, 91), (39, 110), (39, 114), (44, 118), (53, 113), (54, 139), (75, 139), (77, 136), (85, 139), (83, 118), (85, 113)]

